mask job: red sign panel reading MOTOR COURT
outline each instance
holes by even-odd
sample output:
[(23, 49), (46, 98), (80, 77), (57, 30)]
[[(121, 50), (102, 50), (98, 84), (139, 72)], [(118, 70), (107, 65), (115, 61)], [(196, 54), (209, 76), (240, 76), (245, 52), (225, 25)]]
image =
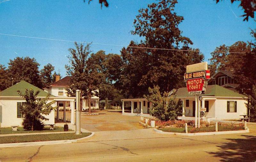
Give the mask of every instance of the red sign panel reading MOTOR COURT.
[(202, 91), (204, 87), (204, 78), (187, 80), (188, 92)]

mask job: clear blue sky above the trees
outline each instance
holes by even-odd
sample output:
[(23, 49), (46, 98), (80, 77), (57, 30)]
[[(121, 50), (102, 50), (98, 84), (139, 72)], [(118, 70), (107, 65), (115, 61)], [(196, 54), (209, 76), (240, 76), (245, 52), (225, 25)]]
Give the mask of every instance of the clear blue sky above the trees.
[[(48, 39), (93, 42), (128, 46), (131, 40), (140, 41), (130, 31), (140, 8), (155, 0), (108, 0), (102, 7), (98, 0), (89, 5), (83, 0), (0, 0), (0, 33)], [(244, 22), (239, 3), (230, 0), (216, 4), (213, 0), (178, 0), (175, 12), (184, 17), (179, 25), (182, 35), (190, 38), (193, 48), (214, 51), (216, 46), (250, 41), (250, 28), (256, 27), (249, 18)], [(55, 70), (66, 75), (68, 48), (74, 43), (28, 39), (0, 35), (0, 64), (8, 66), (15, 57), (34, 57), (40, 69), (51, 63)], [(92, 45), (92, 51), (120, 54), (122, 47)], [(204, 52), (205, 61), (211, 58)]]

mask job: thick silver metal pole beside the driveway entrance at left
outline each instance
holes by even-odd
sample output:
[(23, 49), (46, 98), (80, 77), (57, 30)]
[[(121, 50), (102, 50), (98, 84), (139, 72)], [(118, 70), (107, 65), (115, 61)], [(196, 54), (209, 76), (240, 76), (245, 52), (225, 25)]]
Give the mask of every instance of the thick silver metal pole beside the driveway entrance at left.
[(81, 134), (80, 90), (76, 90), (76, 135)]

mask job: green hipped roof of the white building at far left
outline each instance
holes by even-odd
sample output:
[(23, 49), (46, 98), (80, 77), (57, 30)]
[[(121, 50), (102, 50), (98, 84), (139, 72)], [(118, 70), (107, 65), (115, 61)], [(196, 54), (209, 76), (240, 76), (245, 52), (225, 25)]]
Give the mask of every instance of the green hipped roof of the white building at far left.
[[(22, 94), (25, 93), (26, 88), (29, 90), (30, 88), (32, 88), (34, 90), (34, 92), (36, 92), (37, 90), (40, 91), (40, 93), (37, 95), (38, 97), (46, 97), (48, 95), (47, 92), (45, 92), (44, 90), (33, 86), (32, 84), (29, 84), (26, 81), (20, 81), (19, 83), (13, 85), (12, 87), (9, 87), (3, 91), (0, 92), (0, 96), (20, 96), (18, 94), (18, 90), (20, 90), (20, 92)], [(50, 95), (52, 97), (54, 97), (54, 95)]]

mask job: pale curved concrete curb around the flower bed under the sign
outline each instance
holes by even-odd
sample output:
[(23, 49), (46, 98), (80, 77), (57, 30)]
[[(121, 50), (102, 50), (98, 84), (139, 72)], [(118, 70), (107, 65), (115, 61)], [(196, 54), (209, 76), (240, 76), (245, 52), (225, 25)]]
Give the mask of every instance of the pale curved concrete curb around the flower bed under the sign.
[(249, 133), (250, 130), (232, 130), (232, 131), (219, 131), (219, 132), (201, 132), (201, 133), (174, 133), (164, 132), (162, 130), (154, 129), (156, 133), (169, 134), (169, 135), (181, 135), (181, 136), (207, 136), (207, 135), (220, 135), (220, 134), (236, 134), (236, 133)]

